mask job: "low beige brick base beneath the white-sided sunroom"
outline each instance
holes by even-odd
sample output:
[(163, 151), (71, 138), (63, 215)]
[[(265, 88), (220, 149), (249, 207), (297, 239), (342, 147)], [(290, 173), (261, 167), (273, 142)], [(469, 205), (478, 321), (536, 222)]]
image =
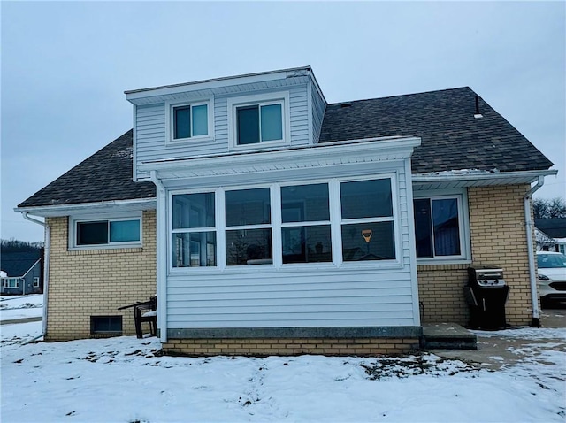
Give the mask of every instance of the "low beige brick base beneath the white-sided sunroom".
[(417, 338), (359, 339), (170, 339), (164, 343), (164, 354), (187, 356), (295, 356), (324, 354), (325, 356), (374, 356), (398, 354), (418, 349)]

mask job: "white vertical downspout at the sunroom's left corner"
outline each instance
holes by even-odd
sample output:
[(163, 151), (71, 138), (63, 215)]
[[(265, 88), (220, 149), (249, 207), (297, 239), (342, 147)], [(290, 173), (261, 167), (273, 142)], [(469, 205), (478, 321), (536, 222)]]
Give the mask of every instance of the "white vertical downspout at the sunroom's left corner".
[(159, 340), (161, 342), (167, 342), (167, 289), (165, 287), (166, 283), (166, 263), (167, 263), (167, 250), (164, 241), (165, 236), (165, 223), (166, 223), (166, 196), (165, 187), (163, 182), (157, 178), (157, 172), (151, 171), (150, 173), (151, 181), (155, 184), (157, 188), (157, 240), (156, 240), (156, 274), (157, 274), (157, 324), (159, 327)]

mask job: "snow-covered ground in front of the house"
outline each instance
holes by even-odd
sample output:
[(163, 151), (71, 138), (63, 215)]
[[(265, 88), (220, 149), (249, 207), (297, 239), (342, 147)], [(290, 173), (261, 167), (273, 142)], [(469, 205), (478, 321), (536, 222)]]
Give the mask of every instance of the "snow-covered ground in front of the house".
[(41, 330), (1, 326), (3, 423), (566, 419), (566, 329), (487, 333), (524, 340), (510, 352), (525, 359), (498, 371), (430, 353), (161, 357), (156, 338), (133, 336), (23, 344)]

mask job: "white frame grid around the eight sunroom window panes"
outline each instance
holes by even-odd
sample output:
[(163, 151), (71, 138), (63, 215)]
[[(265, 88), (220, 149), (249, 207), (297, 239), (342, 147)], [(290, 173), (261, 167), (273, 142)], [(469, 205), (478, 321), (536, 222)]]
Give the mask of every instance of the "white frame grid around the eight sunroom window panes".
[[(368, 219), (346, 219), (342, 221), (341, 219), (341, 207), (340, 207), (340, 182), (349, 181), (367, 181), (372, 179), (388, 179), (391, 183), (392, 189), (392, 202), (393, 202), (393, 216), (385, 218), (368, 218)], [(330, 223), (327, 221), (321, 222), (302, 222), (304, 226), (311, 226), (316, 224), (329, 224), (331, 229), (332, 237), (332, 261), (329, 262), (312, 262), (312, 263), (287, 263), (283, 264), (282, 257), (282, 239), (281, 239), (281, 228), (287, 226), (296, 226), (295, 223), (282, 223), (281, 221), (281, 187), (288, 187), (293, 185), (310, 185), (310, 184), (328, 184), (329, 190), (329, 212), (330, 212)], [(271, 223), (270, 224), (258, 224), (258, 225), (246, 225), (246, 226), (234, 226), (226, 227), (226, 207), (225, 207), (225, 194), (226, 191), (241, 190), (241, 189), (255, 189), (255, 188), (270, 188), (271, 195)], [(215, 226), (206, 228), (198, 228), (196, 230), (187, 229), (172, 229), (172, 204), (173, 196), (182, 194), (198, 194), (214, 192), (215, 193)], [(397, 175), (396, 173), (378, 173), (366, 175), (363, 177), (354, 178), (330, 178), (330, 179), (317, 179), (317, 180), (306, 180), (306, 181), (288, 181), (272, 184), (252, 184), (252, 185), (242, 185), (242, 186), (226, 186), (221, 188), (201, 188), (201, 189), (175, 189), (168, 193), (168, 224), (167, 224), (167, 269), (169, 274), (186, 274), (186, 273), (208, 273), (208, 272), (218, 272), (225, 271), (229, 269), (231, 272), (263, 272), (266, 268), (285, 268), (291, 269), (293, 267), (344, 267), (344, 268), (376, 268), (379, 269), (391, 269), (402, 267), (402, 227), (401, 218), (399, 212), (399, 196), (398, 196), (398, 186), (397, 186)], [(342, 238), (341, 238), (341, 227), (342, 224), (346, 223), (358, 223), (358, 222), (378, 222), (378, 221), (392, 221), (394, 225), (394, 259), (386, 260), (367, 260), (367, 261), (343, 261), (342, 259)], [(272, 230), (272, 264), (265, 265), (226, 265), (226, 230), (246, 230), (255, 228), (270, 228)], [(203, 232), (203, 231), (216, 231), (216, 266), (187, 266), (187, 267), (174, 267), (172, 265), (172, 236), (174, 233), (179, 232)]]

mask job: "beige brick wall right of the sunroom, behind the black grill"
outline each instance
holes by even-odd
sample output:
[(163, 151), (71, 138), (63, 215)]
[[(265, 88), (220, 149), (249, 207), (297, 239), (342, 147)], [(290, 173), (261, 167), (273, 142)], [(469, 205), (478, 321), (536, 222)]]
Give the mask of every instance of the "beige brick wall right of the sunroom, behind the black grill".
[[(528, 185), (469, 188), (472, 265), (498, 265), (508, 282), (506, 306), (510, 325), (532, 320), (531, 288), (524, 222)], [(462, 287), (468, 265), (418, 265), (423, 322), (467, 324), (468, 306)]]

